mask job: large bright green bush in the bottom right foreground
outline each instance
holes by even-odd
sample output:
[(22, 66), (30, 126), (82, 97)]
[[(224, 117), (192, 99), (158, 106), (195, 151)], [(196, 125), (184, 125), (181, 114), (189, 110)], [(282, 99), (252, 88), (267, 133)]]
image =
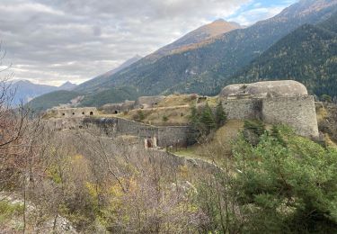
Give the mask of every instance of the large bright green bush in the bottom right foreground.
[(285, 127), (235, 143), (237, 202), (250, 233), (337, 233), (337, 149)]

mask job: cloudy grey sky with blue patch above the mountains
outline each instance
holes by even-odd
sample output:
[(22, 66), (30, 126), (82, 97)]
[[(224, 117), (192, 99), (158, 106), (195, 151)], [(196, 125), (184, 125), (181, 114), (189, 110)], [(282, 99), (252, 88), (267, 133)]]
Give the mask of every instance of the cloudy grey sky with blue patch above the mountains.
[[(297, 0), (0, 0), (0, 69), (80, 84), (219, 18), (251, 25)], [(0, 75), (4, 76), (4, 72)]]

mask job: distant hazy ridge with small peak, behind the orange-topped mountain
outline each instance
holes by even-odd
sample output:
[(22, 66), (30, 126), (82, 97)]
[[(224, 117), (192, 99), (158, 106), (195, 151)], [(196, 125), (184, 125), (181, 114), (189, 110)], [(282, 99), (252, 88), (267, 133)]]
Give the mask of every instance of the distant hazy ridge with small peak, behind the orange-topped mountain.
[(93, 79), (91, 79), (89, 81), (86, 81), (81, 85), (78, 85), (75, 89), (78, 92), (83, 92), (83, 91), (86, 91), (86, 90), (93, 90), (94, 88), (97, 88), (98, 84), (101, 84), (101, 83), (105, 82), (110, 76), (112, 76), (113, 74), (119, 72), (120, 70), (122, 70), (126, 67), (129, 67), (130, 65), (137, 62), (140, 58), (142, 58), (142, 57), (140, 57), (139, 55), (136, 55), (133, 58), (129, 58), (124, 63), (122, 63), (120, 65), (120, 67), (112, 69), (111, 71), (108, 71), (108, 72), (102, 74), (101, 76), (96, 76)]

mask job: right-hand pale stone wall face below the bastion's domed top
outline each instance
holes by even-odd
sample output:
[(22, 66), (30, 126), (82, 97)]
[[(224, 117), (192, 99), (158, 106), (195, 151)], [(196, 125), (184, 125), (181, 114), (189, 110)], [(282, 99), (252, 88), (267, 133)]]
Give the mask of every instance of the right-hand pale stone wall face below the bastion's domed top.
[(262, 119), (268, 123), (287, 124), (305, 137), (318, 138), (313, 96), (270, 97), (262, 101)]

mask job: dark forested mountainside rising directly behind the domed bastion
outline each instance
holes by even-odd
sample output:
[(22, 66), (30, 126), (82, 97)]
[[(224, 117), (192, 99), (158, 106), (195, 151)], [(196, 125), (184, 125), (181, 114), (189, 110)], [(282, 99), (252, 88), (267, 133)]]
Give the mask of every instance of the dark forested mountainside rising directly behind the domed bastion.
[(276, 79), (297, 80), (319, 96), (337, 96), (337, 13), (292, 31), (228, 81)]

